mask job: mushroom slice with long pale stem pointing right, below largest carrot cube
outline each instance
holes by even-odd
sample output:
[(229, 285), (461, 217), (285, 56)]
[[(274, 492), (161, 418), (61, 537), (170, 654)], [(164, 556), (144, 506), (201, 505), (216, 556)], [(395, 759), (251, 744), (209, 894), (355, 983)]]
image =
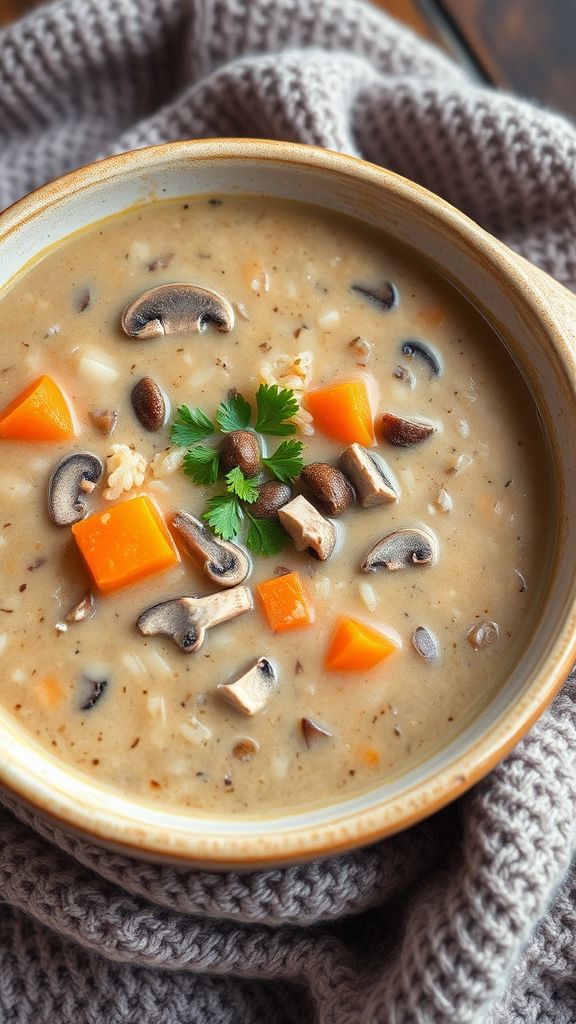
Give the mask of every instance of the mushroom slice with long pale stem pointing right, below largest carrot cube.
[(235, 587), (207, 597), (176, 597), (153, 604), (142, 611), (136, 626), (147, 637), (171, 637), (180, 650), (190, 654), (202, 646), (207, 630), (253, 607), (248, 587)]

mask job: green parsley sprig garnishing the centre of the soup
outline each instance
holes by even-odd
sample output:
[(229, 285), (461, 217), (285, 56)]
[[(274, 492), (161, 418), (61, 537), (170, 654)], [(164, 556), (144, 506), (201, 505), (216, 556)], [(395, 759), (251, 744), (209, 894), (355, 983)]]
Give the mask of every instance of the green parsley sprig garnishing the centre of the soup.
[[(289, 421), (298, 412), (298, 401), (289, 388), (277, 384), (260, 384), (255, 395), (256, 432), (275, 437), (287, 437), (296, 432)], [(187, 447), (183, 471), (195, 483), (211, 486), (217, 482), (220, 456), (216, 447), (200, 443), (218, 431), (232, 433), (250, 429), (252, 408), (246, 398), (234, 392), (220, 402), (216, 411), (216, 424), (198, 408), (180, 406), (170, 430), (173, 444)], [(282, 483), (290, 483), (303, 469), (302, 442), (294, 439), (282, 441), (272, 455), (261, 459), (268, 470)], [(238, 537), (246, 526), (246, 546), (257, 555), (275, 555), (284, 546), (286, 534), (276, 519), (257, 519), (250, 513), (258, 497), (257, 477), (246, 477), (235, 466), (224, 477), (225, 493), (208, 499), (202, 518), (224, 541)]]

